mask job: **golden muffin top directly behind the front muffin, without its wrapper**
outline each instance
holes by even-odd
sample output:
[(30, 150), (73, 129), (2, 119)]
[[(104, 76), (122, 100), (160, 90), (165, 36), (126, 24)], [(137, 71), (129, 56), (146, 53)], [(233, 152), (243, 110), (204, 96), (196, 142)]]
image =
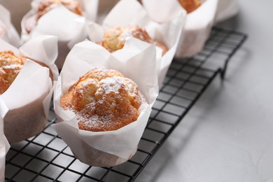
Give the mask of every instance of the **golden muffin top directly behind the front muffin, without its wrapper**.
[(168, 51), (168, 48), (163, 43), (155, 41), (151, 38), (145, 29), (141, 29), (137, 25), (127, 25), (126, 27), (113, 27), (104, 33), (102, 42), (100, 43), (109, 52), (120, 50), (125, 45), (126, 38), (134, 37), (147, 43), (156, 43), (162, 49), (162, 55)]

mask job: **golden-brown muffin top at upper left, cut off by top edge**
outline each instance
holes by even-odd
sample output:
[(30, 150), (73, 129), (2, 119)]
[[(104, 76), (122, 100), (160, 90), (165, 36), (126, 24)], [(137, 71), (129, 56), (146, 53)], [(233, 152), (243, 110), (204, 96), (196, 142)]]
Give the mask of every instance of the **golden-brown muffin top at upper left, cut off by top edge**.
[(41, 18), (45, 13), (55, 8), (58, 4), (62, 4), (67, 9), (78, 15), (83, 15), (83, 11), (80, 8), (78, 1), (75, 0), (41, 0), (38, 6), (37, 20)]

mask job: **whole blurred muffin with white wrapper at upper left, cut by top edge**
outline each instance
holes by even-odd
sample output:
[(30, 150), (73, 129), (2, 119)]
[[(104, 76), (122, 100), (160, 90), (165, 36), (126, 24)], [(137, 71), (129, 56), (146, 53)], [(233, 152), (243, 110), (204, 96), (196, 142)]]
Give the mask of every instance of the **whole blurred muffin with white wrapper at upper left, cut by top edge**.
[(22, 18), (22, 42), (39, 35), (58, 37), (56, 65), (62, 69), (64, 59), (76, 43), (87, 38), (86, 22), (97, 18), (98, 0), (34, 0)]

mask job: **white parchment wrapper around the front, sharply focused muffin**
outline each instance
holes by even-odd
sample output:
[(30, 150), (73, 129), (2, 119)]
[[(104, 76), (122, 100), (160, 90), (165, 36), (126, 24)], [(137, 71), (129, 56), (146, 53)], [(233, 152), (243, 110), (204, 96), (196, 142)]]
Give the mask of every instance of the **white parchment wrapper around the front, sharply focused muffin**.
[[(55, 113), (62, 122), (52, 126), (80, 161), (94, 166), (113, 166), (127, 161), (134, 155), (151, 107), (158, 97), (155, 54), (155, 44), (136, 38), (129, 38), (124, 48), (113, 54), (90, 41), (78, 43), (73, 47), (66, 57), (54, 94)], [(137, 83), (147, 101), (141, 105), (137, 121), (110, 132), (78, 129), (74, 113), (64, 111), (59, 99), (80, 76), (94, 68), (116, 69)]]

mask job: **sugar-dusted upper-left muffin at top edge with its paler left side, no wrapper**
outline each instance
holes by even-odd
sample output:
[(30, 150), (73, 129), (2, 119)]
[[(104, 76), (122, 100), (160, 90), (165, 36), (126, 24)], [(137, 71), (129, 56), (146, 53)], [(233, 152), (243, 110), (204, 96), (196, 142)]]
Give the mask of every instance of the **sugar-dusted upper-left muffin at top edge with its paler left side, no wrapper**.
[(36, 26), (37, 21), (48, 13), (48, 11), (52, 10), (59, 4), (62, 4), (71, 12), (76, 13), (77, 15), (83, 15), (83, 10), (80, 8), (78, 1), (75, 0), (41, 0), (38, 3), (38, 8), (36, 9), (35, 15), (31, 16), (25, 22), (25, 28), (27, 33), (31, 32), (31, 30)]

